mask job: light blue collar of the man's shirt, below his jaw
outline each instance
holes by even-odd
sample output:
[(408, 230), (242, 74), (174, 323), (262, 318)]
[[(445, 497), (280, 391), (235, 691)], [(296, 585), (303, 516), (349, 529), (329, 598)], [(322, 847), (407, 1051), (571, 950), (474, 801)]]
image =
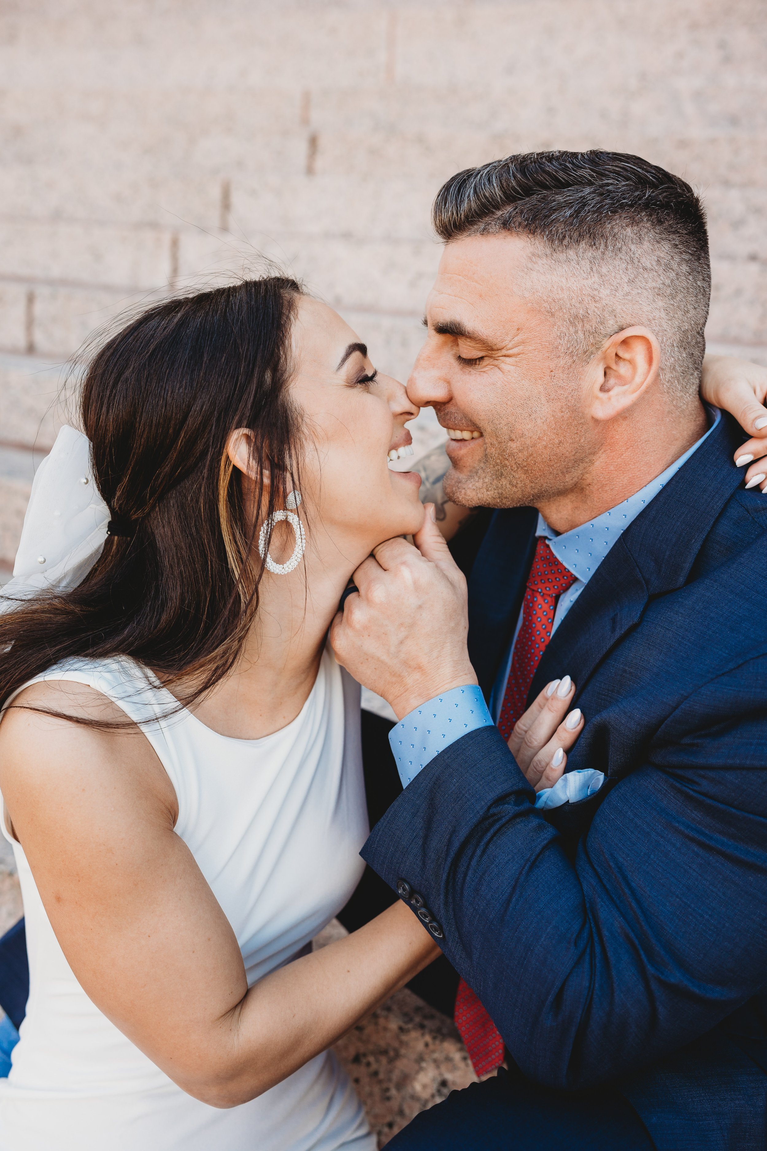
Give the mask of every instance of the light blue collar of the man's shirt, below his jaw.
[(601, 516), (589, 520), (588, 524), (574, 527), (569, 532), (562, 532), (561, 535), (558, 535), (549, 526), (540, 512), (538, 512), (536, 535), (543, 535), (549, 540), (551, 550), (557, 558), (583, 584), (589, 582), (599, 564), (629, 524), (637, 518), (641, 511), (644, 511), (650, 501), (666, 487), (670, 478), (678, 472), (680, 467), (688, 462), (692, 452), (697, 451), (704, 440), (714, 430), (722, 418), (722, 413), (718, 407), (710, 407), (707, 404), (706, 410), (711, 420), (711, 427), (705, 435), (701, 435), (691, 448), (688, 448), (683, 456), (675, 459), (665, 472), (661, 472), (654, 480), (646, 483), (641, 491), (629, 496), (628, 500), (624, 500), (618, 506), (604, 511)]

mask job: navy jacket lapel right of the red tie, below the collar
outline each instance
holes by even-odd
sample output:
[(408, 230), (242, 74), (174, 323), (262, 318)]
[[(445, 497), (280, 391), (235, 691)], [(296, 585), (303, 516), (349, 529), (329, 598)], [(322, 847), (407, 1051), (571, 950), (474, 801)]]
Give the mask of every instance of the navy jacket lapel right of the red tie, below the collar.
[(528, 703), (569, 674), (578, 692), (634, 627), (650, 596), (683, 587), (720, 511), (743, 479), (733, 452), (743, 433), (727, 416), (611, 548), (543, 654)]

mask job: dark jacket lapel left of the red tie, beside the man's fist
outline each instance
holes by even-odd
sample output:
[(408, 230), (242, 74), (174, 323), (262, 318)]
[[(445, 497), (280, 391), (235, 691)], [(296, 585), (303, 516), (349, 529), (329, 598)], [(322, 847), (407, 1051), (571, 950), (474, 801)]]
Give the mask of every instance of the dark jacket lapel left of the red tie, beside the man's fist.
[(537, 523), (534, 508), (497, 511), (469, 577), (469, 658), (488, 700), (522, 605)]

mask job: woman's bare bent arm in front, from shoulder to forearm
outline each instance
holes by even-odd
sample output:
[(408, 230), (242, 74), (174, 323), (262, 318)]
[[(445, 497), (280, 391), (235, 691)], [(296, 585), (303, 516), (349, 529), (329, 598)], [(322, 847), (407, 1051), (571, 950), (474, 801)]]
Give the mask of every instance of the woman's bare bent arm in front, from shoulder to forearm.
[[(80, 685), (34, 685), (16, 702), (124, 721)], [(235, 933), (174, 831), (175, 793), (137, 727), (11, 709), (0, 764), (14, 833), (86, 994), (213, 1106), (285, 1078), (439, 954), (398, 902), (248, 991)]]

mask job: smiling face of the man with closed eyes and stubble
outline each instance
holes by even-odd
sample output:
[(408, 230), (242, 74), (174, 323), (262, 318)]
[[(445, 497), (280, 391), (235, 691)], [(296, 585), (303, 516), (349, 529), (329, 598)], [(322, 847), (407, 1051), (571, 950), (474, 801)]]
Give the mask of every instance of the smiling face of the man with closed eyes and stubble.
[(547, 280), (552, 297), (558, 288), (554, 274), (522, 236), (445, 247), (407, 391), (443, 427), (473, 433), (447, 445), (444, 487), (457, 504), (535, 506), (577, 483), (598, 450), (585, 365), (568, 363), (566, 321), (543, 303)]

